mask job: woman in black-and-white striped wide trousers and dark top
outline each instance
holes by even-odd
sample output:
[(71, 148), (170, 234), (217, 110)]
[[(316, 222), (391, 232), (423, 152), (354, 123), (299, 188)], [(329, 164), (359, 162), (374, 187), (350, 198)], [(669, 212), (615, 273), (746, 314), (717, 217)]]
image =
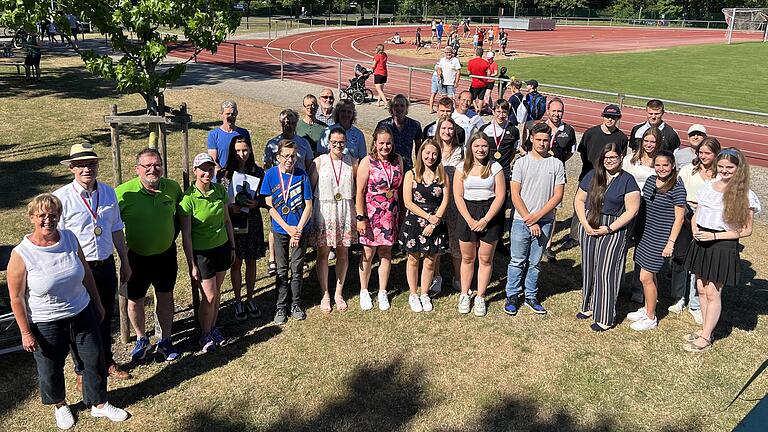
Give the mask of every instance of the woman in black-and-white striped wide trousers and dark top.
[(581, 229), (581, 311), (578, 319), (593, 318), (592, 330), (615, 325), (616, 297), (627, 258), (627, 225), (640, 208), (640, 188), (621, 169), (617, 144), (603, 148), (595, 169), (579, 183), (573, 200)]

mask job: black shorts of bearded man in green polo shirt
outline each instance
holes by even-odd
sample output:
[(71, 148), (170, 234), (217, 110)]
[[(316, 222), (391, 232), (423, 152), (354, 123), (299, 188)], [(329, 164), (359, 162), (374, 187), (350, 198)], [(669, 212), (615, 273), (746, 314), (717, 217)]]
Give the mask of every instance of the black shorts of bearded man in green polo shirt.
[(128, 249), (128, 264), (131, 266), (131, 278), (128, 279), (128, 298), (139, 300), (147, 295), (149, 286), (155, 287), (156, 293), (173, 292), (176, 286), (176, 274), (179, 264), (176, 261), (176, 243), (165, 252), (143, 256)]

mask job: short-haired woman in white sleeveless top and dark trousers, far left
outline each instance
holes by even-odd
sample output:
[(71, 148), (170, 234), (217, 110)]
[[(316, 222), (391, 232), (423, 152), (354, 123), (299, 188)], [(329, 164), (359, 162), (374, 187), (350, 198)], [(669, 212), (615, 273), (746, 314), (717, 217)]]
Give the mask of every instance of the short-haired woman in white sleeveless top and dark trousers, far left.
[(52, 194), (33, 198), (27, 215), (34, 231), (11, 252), (8, 291), (21, 344), (34, 353), (43, 404), (54, 405), (60, 429), (75, 424), (64, 386), (70, 347), (84, 366), (83, 402), (91, 416), (123, 421), (128, 413), (107, 402), (99, 332), (104, 308), (77, 237), (57, 228), (61, 211), (61, 201)]

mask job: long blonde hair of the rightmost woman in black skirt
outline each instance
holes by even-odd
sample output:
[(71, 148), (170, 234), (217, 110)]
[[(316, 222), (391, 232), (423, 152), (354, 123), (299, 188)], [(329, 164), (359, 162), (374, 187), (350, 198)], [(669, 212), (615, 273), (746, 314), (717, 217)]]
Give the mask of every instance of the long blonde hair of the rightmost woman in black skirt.
[(736, 171), (723, 190), (723, 222), (743, 227), (749, 219), (749, 164), (744, 153), (734, 147), (720, 150), (715, 158), (715, 166), (723, 159), (736, 165)]

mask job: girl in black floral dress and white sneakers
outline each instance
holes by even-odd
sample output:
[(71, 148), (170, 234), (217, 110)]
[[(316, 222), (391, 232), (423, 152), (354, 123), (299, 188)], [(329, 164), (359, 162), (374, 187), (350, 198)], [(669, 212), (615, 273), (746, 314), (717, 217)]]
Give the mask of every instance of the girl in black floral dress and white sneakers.
[[(412, 170), (405, 174), (403, 201), (408, 210), (400, 230), (400, 249), (408, 254), (406, 276), (411, 291), (408, 304), (414, 312), (432, 311), (429, 286), (437, 257), (448, 250), (448, 229), (442, 219), (450, 201), (450, 183), (441, 163), (440, 147), (426, 140), (419, 148)], [(419, 261), (424, 258), (419, 285)]]

